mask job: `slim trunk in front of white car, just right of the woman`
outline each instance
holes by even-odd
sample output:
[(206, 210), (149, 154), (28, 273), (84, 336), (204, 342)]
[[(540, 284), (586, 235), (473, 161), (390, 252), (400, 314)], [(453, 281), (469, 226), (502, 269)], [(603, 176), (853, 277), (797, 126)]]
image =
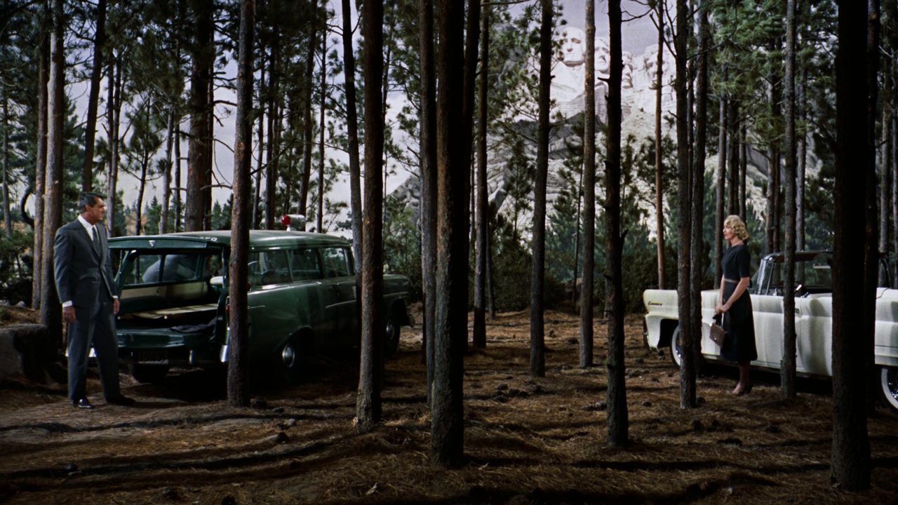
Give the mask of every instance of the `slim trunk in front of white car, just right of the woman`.
[(796, 146), (796, 3), (786, 2), (786, 75), (784, 105), (786, 109), (786, 258), (783, 261), (783, 358), (779, 366), (780, 393), (789, 399), (796, 397), (796, 328), (795, 328), (795, 252), (796, 208), (795, 178), (797, 163)]

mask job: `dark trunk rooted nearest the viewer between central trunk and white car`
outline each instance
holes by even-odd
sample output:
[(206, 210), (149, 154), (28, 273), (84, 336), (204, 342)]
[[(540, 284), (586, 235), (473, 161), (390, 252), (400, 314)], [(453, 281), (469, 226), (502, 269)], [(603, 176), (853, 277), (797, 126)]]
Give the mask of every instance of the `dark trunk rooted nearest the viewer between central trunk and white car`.
[[(611, 69), (608, 77), (608, 137), (605, 159), (605, 278), (608, 292), (608, 445), (621, 447), (629, 442), (626, 367), (624, 365), (624, 299), (621, 257), (621, 0), (608, 1)], [(685, 100), (682, 106), (685, 107)], [(684, 112), (684, 111), (680, 111)], [(685, 114), (682, 118), (685, 119)], [(681, 130), (684, 131), (684, 130)], [(683, 216), (688, 216), (688, 210)], [(687, 279), (688, 281), (688, 279)]]

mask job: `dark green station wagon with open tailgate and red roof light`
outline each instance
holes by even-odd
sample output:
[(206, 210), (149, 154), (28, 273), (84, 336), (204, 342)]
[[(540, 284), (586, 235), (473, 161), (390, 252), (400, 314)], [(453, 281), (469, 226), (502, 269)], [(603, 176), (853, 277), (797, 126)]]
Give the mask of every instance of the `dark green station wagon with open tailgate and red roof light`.
[[(230, 231), (123, 236), (119, 253), (119, 357), (138, 382), (172, 366), (227, 361)], [(286, 382), (300, 357), (357, 349), (356, 272), (347, 240), (291, 231), (250, 232), (248, 294), (252, 367)], [(384, 355), (399, 346), (409, 317), (410, 282), (383, 276)]]

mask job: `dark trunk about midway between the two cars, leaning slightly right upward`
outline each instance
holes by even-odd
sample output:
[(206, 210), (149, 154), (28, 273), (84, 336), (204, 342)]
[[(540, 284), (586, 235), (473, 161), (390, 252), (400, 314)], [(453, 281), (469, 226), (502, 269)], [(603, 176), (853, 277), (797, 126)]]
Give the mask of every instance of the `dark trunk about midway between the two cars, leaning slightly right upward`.
[(542, 291), (546, 277), (546, 183), (549, 178), (549, 101), (552, 80), (552, 2), (540, 0), (540, 113), (533, 184), (533, 273), (530, 281), (530, 375), (545, 377)]

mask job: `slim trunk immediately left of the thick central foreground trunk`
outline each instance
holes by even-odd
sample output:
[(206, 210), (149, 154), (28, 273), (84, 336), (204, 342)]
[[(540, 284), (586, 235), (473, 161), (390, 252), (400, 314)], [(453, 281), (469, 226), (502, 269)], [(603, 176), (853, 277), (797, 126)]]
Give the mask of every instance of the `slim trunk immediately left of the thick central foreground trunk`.
[(421, 285), (424, 290), (422, 339), (427, 363), (427, 401), (433, 405), (434, 335), (436, 334), (436, 64), (434, 4), (418, 1), (418, 48), (421, 65)]

